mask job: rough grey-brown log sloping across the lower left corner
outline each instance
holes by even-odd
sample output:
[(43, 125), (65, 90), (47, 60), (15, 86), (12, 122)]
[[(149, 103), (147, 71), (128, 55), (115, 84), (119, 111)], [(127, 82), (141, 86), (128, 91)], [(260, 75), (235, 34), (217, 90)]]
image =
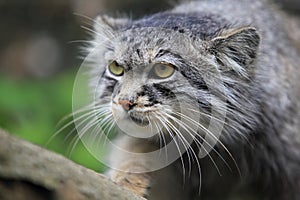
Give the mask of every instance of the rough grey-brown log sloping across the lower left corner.
[(105, 176), (0, 130), (1, 200), (141, 200)]

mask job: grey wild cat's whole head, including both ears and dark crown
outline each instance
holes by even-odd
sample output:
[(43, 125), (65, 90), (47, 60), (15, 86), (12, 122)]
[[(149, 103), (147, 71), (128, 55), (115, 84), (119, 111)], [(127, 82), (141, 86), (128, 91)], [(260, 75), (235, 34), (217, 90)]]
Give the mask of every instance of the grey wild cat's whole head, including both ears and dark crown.
[(230, 28), (206, 15), (101, 16), (92, 44), (95, 100), (129, 134), (172, 135), (179, 127), (197, 134), (212, 119), (248, 120), (237, 100), (255, 72), (255, 28)]

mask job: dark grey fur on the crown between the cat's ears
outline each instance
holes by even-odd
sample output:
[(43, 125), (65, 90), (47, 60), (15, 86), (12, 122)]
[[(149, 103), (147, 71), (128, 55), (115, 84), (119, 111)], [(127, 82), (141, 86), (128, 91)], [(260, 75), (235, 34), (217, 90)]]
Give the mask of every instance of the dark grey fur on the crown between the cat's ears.
[[(218, 21), (216, 20), (218, 19)], [(161, 27), (172, 29), (179, 33), (207, 39), (216, 36), (226, 27), (225, 20), (205, 13), (158, 13), (152, 16), (133, 21), (125, 30), (146, 27)]]

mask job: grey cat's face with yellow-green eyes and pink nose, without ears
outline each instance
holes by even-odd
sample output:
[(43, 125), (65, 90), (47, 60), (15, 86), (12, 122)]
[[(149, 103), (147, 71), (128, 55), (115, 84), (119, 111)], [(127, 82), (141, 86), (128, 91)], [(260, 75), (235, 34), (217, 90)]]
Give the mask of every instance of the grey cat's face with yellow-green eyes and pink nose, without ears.
[[(157, 34), (145, 28), (119, 33), (109, 41), (113, 48), (104, 52), (98, 95), (108, 99), (120, 129), (137, 137), (150, 137), (163, 124), (172, 127), (179, 122), (183, 109), (191, 113), (186, 117), (198, 114), (192, 113), (199, 107), (196, 96), (203, 96), (203, 104), (209, 107), (203, 77), (185, 58), (195, 53), (184, 45), (190, 44), (188, 40), (170, 30)], [(201, 56), (198, 58), (201, 60)]]

